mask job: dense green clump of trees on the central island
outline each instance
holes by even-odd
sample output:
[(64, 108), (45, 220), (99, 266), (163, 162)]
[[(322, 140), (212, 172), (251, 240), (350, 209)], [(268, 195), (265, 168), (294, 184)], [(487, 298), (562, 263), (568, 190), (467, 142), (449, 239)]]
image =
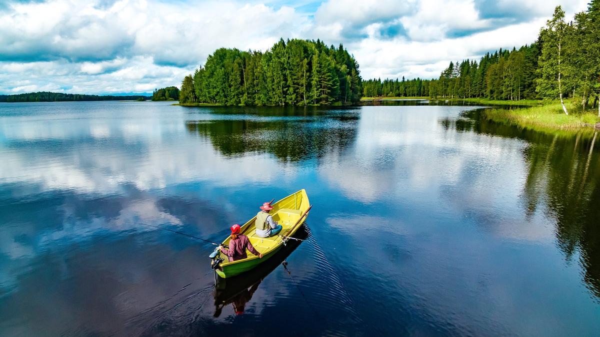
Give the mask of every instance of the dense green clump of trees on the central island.
[(217, 49), (204, 67), (185, 77), (179, 103), (355, 104), (361, 82), (358, 63), (341, 44), (281, 39), (266, 52)]

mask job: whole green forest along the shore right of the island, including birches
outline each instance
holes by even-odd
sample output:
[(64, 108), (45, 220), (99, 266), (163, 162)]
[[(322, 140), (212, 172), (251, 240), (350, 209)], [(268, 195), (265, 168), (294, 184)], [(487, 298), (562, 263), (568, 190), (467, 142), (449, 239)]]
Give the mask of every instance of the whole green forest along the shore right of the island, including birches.
[(574, 20), (558, 6), (534, 43), (487, 53), (479, 61), (450, 62), (438, 79), (375, 79), (363, 87), (369, 97), (560, 100), (565, 113), (563, 101), (571, 99), (582, 110), (600, 111), (600, 0)]

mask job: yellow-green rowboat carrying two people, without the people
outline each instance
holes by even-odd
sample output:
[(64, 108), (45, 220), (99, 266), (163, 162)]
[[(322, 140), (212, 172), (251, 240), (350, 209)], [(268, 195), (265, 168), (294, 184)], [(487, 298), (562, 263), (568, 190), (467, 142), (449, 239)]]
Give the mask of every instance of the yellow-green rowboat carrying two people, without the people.
[[(253, 269), (260, 263), (268, 260), (269, 257), (275, 255), (275, 252), (277, 252), (289, 237), (296, 233), (298, 228), (304, 223), (308, 216), (308, 211), (311, 208), (308, 203), (308, 196), (304, 189), (288, 195), (272, 204), (272, 206), (273, 209), (269, 213), (273, 216), (273, 219), (283, 227), (279, 234), (272, 237), (256, 236), (256, 226), (254, 225), (256, 216), (246, 222), (240, 230), (241, 234), (244, 234), (250, 239), (250, 243), (252, 243), (254, 248), (263, 254), (263, 258), (259, 258), (251, 252), (246, 251), (246, 254), (248, 254), (247, 258), (229, 262), (225, 254), (216, 252), (217, 254), (211, 255), (211, 266), (221, 278), (239, 275)], [(227, 239), (223, 241), (223, 245), (229, 246), (230, 239), (231, 237), (227, 236)]]

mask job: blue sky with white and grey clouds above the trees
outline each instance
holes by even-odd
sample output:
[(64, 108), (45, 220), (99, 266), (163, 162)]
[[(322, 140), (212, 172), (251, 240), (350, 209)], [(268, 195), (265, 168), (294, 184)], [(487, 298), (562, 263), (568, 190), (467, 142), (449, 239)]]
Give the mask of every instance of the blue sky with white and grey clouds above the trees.
[(535, 41), (587, 0), (3, 0), (0, 93), (118, 94), (179, 85), (218, 47), (343, 43), (364, 78), (439, 76), (449, 61)]

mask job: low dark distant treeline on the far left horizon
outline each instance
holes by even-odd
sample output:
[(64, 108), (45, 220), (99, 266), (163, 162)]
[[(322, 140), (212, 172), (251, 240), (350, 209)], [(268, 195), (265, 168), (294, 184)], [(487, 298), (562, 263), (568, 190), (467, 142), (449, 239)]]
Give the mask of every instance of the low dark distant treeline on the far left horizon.
[(0, 102), (68, 102), (68, 101), (134, 101), (139, 98), (149, 99), (148, 96), (98, 96), (82, 94), (62, 94), (62, 92), (30, 92), (29, 94), (0, 95)]

